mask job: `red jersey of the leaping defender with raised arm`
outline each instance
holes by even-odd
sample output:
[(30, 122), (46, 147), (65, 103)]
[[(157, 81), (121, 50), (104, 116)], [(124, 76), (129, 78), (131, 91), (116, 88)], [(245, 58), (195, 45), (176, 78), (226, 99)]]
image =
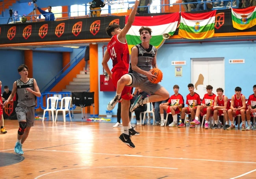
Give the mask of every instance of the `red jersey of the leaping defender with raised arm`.
[(127, 42), (125, 43), (120, 42), (117, 39), (117, 35), (113, 35), (111, 37), (111, 40), (107, 46), (108, 53), (113, 62), (113, 68), (111, 72), (115, 72), (116, 70), (122, 70), (128, 73), (129, 63), (130, 63), (130, 54), (129, 54), (128, 45), (127, 45)]

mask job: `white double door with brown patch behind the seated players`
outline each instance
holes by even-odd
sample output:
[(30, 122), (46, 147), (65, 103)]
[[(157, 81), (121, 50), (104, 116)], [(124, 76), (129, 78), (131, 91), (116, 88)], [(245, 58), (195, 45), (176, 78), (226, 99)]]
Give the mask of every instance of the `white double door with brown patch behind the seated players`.
[(191, 58), (191, 83), (194, 84), (195, 92), (202, 99), (206, 94), (206, 86), (213, 87), (213, 93), (217, 95), (216, 89), (222, 88), (225, 92), (224, 57), (221, 58)]

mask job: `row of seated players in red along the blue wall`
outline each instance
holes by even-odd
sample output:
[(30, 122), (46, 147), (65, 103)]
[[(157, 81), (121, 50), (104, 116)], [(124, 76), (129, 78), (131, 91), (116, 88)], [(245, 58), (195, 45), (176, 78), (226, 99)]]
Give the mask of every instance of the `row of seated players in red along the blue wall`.
[[(169, 113), (172, 114), (168, 115), (171, 116), (168, 120), (169, 127), (185, 127), (185, 117), (188, 114), (189, 118), (193, 119), (189, 124), (191, 128), (200, 125), (204, 116), (205, 129), (217, 129), (218, 119), (220, 119), (224, 120), (222, 123), (225, 123), (223, 127), (224, 130), (232, 130), (235, 129), (234, 121), (236, 121), (237, 124), (237, 116), (241, 116), (242, 130), (251, 130), (251, 122), (253, 117), (256, 116), (256, 85), (253, 86), (254, 94), (250, 95), (248, 99), (241, 94), (242, 89), (240, 87), (235, 88), (235, 94), (231, 99), (223, 95), (224, 91), (222, 88), (216, 90), (217, 96), (213, 94), (212, 89), (213, 87), (208, 85), (206, 87), (207, 93), (201, 100), (200, 96), (194, 92), (194, 85), (190, 83), (188, 85), (189, 94), (186, 96), (187, 107), (185, 107), (184, 98), (178, 92), (179, 86), (174, 85), (174, 94), (168, 101), (159, 101), (154, 104), (155, 123), (153, 125), (160, 124), (164, 126), (167, 124), (168, 119), (166, 119), (166, 113)], [(157, 111), (158, 105), (160, 114)], [(181, 118), (180, 124), (178, 124), (178, 115), (180, 115)], [(212, 121), (210, 121), (210, 119), (212, 119)], [(247, 127), (245, 119), (247, 121)], [(211, 126), (209, 122), (211, 122)]]

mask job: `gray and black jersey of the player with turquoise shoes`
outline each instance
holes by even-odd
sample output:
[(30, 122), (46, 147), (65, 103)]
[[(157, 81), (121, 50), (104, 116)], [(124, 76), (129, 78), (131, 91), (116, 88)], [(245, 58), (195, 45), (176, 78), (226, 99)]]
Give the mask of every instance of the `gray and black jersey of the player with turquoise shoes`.
[(30, 78), (27, 83), (23, 83), (20, 79), (16, 81), (17, 84), (17, 95), (18, 95), (18, 105), (23, 107), (35, 106), (35, 95), (28, 92), (26, 88), (34, 90), (34, 79)]

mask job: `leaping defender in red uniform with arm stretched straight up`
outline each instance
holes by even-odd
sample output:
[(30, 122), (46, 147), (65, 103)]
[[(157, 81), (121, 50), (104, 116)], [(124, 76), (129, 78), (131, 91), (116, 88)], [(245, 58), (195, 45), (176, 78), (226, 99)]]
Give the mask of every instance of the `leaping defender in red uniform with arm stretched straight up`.
[[(128, 73), (130, 64), (130, 54), (125, 36), (126, 33), (130, 30), (132, 23), (134, 22), (138, 4), (139, 2), (138, 0), (136, 0), (134, 4), (134, 9), (132, 9), (128, 21), (123, 29), (121, 29), (118, 24), (111, 24), (106, 28), (106, 32), (111, 37), (111, 40), (108, 43), (107, 50), (104, 54), (102, 66), (108, 73), (109, 77), (112, 79), (115, 87), (117, 87), (117, 81), (124, 74)], [(108, 66), (108, 61), (110, 58), (113, 62), (113, 68), (111, 71)], [(124, 142), (129, 147), (135, 148), (134, 144), (132, 143), (132, 140), (130, 139), (130, 136), (135, 134), (138, 135), (139, 133), (137, 133), (133, 129), (133, 127), (130, 124), (129, 115), (127, 115), (130, 107), (130, 100), (133, 98), (131, 94), (131, 89), (131, 87), (124, 87), (122, 93), (116, 94), (116, 96), (117, 99), (122, 99), (121, 118), (123, 125), (123, 133), (119, 136), (119, 139), (122, 140), (122, 142)], [(112, 110), (112, 106), (113, 104), (108, 104), (107, 109)]]

